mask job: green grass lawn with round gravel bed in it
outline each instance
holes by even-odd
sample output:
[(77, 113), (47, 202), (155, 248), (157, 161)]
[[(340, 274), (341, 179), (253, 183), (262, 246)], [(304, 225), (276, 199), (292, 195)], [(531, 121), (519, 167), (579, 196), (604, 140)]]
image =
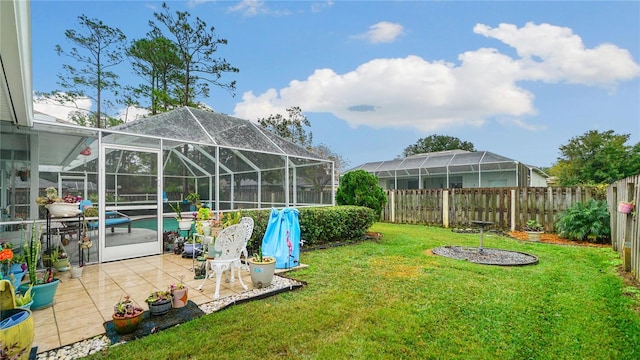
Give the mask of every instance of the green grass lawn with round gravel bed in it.
[(638, 293), (610, 249), (486, 236), (540, 263), (429, 253), (478, 235), (375, 224), (384, 237), (303, 252), (294, 292), (232, 306), (90, 359), (637, 359)]

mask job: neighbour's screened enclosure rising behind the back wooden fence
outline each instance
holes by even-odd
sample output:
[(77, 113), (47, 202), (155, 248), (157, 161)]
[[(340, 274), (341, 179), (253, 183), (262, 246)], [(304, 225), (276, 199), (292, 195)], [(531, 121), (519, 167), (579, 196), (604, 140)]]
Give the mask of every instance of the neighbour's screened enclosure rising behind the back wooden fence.
[(547, 186), (541, 170), (489, 151), (449, 150), (362, 164), (384, 189)]

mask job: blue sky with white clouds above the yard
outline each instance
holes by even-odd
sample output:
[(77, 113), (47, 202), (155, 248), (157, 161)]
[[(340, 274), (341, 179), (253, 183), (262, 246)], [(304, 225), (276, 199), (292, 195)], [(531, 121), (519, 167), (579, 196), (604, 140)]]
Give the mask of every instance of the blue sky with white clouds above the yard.
[[(299, 106), (346, 168), (448, 135), (548, 167), (589, 130), (640, 142), (639, 1), (169, 1), (214, 26), (237, 67), (197, 99), (256, 121)], [(144, 38), (158, 1), (31, 1), (33, 88), (62, 90), (55, 46), (86, 15)], [(136, 85), (125, 61), (114, 69)], [(34, 108), (66, 118), (68, 109)], [(81, 106), (91, 107), (90, 101)], [(125, 121), (139, 111), (120, 109)]]

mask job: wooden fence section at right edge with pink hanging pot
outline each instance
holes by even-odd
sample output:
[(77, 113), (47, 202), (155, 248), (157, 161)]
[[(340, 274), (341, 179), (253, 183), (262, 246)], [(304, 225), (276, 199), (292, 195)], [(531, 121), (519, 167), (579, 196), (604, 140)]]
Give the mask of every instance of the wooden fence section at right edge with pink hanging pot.
[[(621, 201), (632, 202), (630, 213), (618, 211)], [(624, 268), (640, 280), (640, 229), (638, 204), (640, 203), (640, 174), (618, 180), (607, 188), (607, 202), (611, 214), (611, 245), (620, 253)]]

